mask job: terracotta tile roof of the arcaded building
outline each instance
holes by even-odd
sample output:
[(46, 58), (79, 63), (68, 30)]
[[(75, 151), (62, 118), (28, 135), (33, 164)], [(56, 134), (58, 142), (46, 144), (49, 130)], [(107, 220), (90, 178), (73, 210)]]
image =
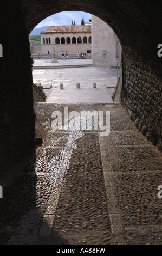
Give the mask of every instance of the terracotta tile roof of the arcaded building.
[(40, 33), (51, 33), (51, 32), (91, 32), (91, 25), (76, 25), (76, 26), (51, 26), (44, 29)]

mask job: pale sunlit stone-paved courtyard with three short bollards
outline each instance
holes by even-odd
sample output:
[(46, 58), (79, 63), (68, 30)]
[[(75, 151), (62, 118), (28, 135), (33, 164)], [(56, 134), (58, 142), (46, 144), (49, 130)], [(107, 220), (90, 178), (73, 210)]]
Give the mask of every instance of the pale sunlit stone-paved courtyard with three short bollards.
[[(40, 81), (44, 87), (47, 103), (113, 102), (111, 95), (117, 83), (116, 75), (116, 70), (100, 67), (33, 70), (33, 79)], [(60, 83), (63, 83), (63, 89), (60, 89)], [(76, 88), (77, 83), (80, 83), (80, 89)], [(97, 84), (96, 89), (93, 83)]]

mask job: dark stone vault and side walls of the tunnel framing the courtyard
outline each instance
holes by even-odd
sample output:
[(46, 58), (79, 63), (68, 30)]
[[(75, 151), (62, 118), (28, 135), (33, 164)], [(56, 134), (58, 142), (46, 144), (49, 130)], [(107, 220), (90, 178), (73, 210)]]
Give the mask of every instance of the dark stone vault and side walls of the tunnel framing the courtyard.
[[(46, 17), (81, 10), (111, 26), (122, 46), (121, 103), (143, 135), (161, 150), (160, 1), (6, 0), (1, 3), (1, 170), (34, 148), (35, 115), (28, 35)], [(48, 41), (46, 41), (47, 43)], [(48, 42), (49, 43), (49, 42)], [(10, 161), (9, 161), (10, 160)]]

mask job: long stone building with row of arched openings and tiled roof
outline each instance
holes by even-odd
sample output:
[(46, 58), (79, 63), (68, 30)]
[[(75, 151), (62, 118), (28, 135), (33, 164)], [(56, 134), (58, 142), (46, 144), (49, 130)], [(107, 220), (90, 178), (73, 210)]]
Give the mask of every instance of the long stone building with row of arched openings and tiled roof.
[(41, 32), (41, 53), (91, 53), (91, 26), (51, 26)]

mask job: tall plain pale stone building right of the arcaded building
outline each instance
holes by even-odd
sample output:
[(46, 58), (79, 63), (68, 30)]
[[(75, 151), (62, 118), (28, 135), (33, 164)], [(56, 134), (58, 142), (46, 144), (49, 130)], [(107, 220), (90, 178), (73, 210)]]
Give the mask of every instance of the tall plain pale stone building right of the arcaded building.
[(95, 66), (116, 66), (120, 64), (120, 52), (120, 42), (113, 29), (92, 15), (93, 64)]

